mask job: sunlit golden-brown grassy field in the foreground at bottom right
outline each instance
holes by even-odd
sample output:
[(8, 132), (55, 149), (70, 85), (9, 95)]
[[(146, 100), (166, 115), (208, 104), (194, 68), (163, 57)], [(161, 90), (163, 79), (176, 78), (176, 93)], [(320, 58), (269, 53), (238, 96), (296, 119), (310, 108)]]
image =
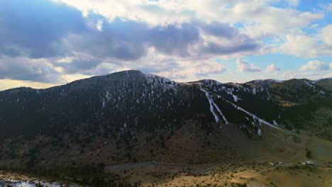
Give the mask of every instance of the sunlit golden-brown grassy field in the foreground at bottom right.
[(289, 164), (140, 166), (117, 172), (141, 186), (332, 186), (331, 169)]

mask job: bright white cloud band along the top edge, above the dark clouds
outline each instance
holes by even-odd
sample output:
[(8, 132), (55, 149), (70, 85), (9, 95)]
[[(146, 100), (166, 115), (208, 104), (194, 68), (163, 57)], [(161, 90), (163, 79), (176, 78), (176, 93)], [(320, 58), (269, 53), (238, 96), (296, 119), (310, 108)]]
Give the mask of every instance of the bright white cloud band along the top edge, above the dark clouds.
[[(242, 23), (244, 33), (254, 38), (265, 35), (282, 35), (292, 30), (309, 26), (323, 18), (322, 13), (301, 12), (294, 8), (272, 6), (280, 1), (261, 0), (160, 0), (160, 1), (109, 1), (109, 0), (54, 0), (74, 6), (83, 13), (92, 11), (105, 16), (109, 21), (126, 18), (132, 21), (146, 21), (151, 25), (165, 26), (170, 23), (202, 21), (211, 23)], [(297, 6), (298, 0), (284, 0), (290, 6)], [(111, 7), (111, 8), (110, 8)]]

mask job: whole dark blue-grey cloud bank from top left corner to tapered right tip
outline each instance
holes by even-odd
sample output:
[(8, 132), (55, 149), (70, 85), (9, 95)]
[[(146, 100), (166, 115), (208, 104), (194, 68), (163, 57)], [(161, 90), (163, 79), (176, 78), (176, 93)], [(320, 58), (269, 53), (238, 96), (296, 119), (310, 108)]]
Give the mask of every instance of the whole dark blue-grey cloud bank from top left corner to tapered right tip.
[(262, 47), (228, 23), (195, 21), (150, 26), (143, 21), (118, 17), (104, 21), (103, 16), (95, 13), (83, 17), (77, 9), (49, 1), (1, 3), (3, 8), (6, 5), (6, 11), (1, 11), (0, 33), (5, 36), (1, 38), (1, 48), (5, 50), (0, 51), (11, 56), (19, 54), (11, 46), (23, 47), (23, 51), (33, 58), (66, 57), (74, 55), (72, 52), (86, 52), (118, 60), (143, 57), (148, 47), (182, 57), (230, 55), (254, 52)]

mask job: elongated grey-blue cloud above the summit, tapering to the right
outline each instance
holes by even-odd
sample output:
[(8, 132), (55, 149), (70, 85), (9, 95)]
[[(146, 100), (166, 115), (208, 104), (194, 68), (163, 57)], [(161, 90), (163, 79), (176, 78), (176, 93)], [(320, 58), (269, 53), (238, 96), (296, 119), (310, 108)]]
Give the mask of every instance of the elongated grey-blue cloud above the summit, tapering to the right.
[(225, 23), (195, 22), (151, 27), (143, 22), (119, 18), (104, 22), (101, 31), (87, 30), (69, 40), (72, 50), (117, 60), (138, 60), (150, 47), (165, 55), (189, 58), (255, 53), (263, 47), (260, 42)]

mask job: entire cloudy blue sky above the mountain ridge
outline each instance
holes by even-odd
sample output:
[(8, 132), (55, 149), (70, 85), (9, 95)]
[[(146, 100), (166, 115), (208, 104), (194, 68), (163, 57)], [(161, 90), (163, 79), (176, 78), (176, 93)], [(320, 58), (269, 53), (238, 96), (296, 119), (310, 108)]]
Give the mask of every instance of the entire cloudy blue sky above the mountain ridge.
[(0, 90), (127, 69), (175, 81), (332, 77), (332, 1), (0, 1)]

